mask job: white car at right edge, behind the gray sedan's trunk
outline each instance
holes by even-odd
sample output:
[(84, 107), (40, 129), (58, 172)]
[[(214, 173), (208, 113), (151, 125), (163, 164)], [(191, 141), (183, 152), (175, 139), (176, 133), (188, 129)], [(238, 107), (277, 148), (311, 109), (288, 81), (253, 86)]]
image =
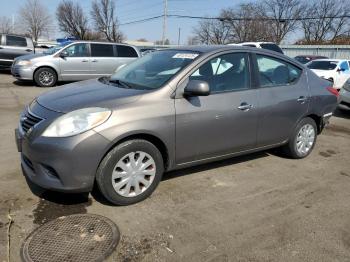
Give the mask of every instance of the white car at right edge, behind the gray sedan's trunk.
[(342, 59), (317, 59), (306, 64), (316, 75), (333, 83), (340, 89), (350, 78), (349, 61)]

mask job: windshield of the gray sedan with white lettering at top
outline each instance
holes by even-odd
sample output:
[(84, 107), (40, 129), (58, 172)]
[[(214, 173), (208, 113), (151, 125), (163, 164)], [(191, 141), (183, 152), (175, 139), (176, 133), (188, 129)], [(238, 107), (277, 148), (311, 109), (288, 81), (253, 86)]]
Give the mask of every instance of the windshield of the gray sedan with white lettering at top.
[(125, 83), (129, 88), (157, 89), (198, 55), (198, 52), (183, 50), (152, 52), (121, 68), (110, 80)]

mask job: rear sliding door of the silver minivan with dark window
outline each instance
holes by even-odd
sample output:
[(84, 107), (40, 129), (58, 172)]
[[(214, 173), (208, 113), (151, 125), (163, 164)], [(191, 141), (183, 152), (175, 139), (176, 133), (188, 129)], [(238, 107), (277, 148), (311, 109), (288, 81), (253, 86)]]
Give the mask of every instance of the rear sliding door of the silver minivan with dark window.
[(119, 66), (112, 44), (90, 44), (91, 73), (95, 77), (109, 76)]

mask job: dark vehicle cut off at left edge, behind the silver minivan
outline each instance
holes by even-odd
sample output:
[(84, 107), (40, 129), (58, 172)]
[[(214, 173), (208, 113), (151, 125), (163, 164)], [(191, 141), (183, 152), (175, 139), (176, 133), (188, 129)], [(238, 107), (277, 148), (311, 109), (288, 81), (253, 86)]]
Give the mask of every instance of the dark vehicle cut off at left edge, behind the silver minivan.
[(10, 69), (16, 57), (33, 53), (32, 39), (0, 33), (0, 69)]

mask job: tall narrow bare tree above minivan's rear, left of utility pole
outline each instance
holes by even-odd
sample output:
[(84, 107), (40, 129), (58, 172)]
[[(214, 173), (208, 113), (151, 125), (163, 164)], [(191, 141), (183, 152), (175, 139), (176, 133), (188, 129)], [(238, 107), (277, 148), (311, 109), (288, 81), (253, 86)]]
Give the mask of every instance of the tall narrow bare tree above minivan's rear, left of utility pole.
[(123, 41), (124, 35), (118, 28), (114, 0), (94, 0), (91, 17), (94, 20), (95, 30), (102, 32), (108, 41)]

